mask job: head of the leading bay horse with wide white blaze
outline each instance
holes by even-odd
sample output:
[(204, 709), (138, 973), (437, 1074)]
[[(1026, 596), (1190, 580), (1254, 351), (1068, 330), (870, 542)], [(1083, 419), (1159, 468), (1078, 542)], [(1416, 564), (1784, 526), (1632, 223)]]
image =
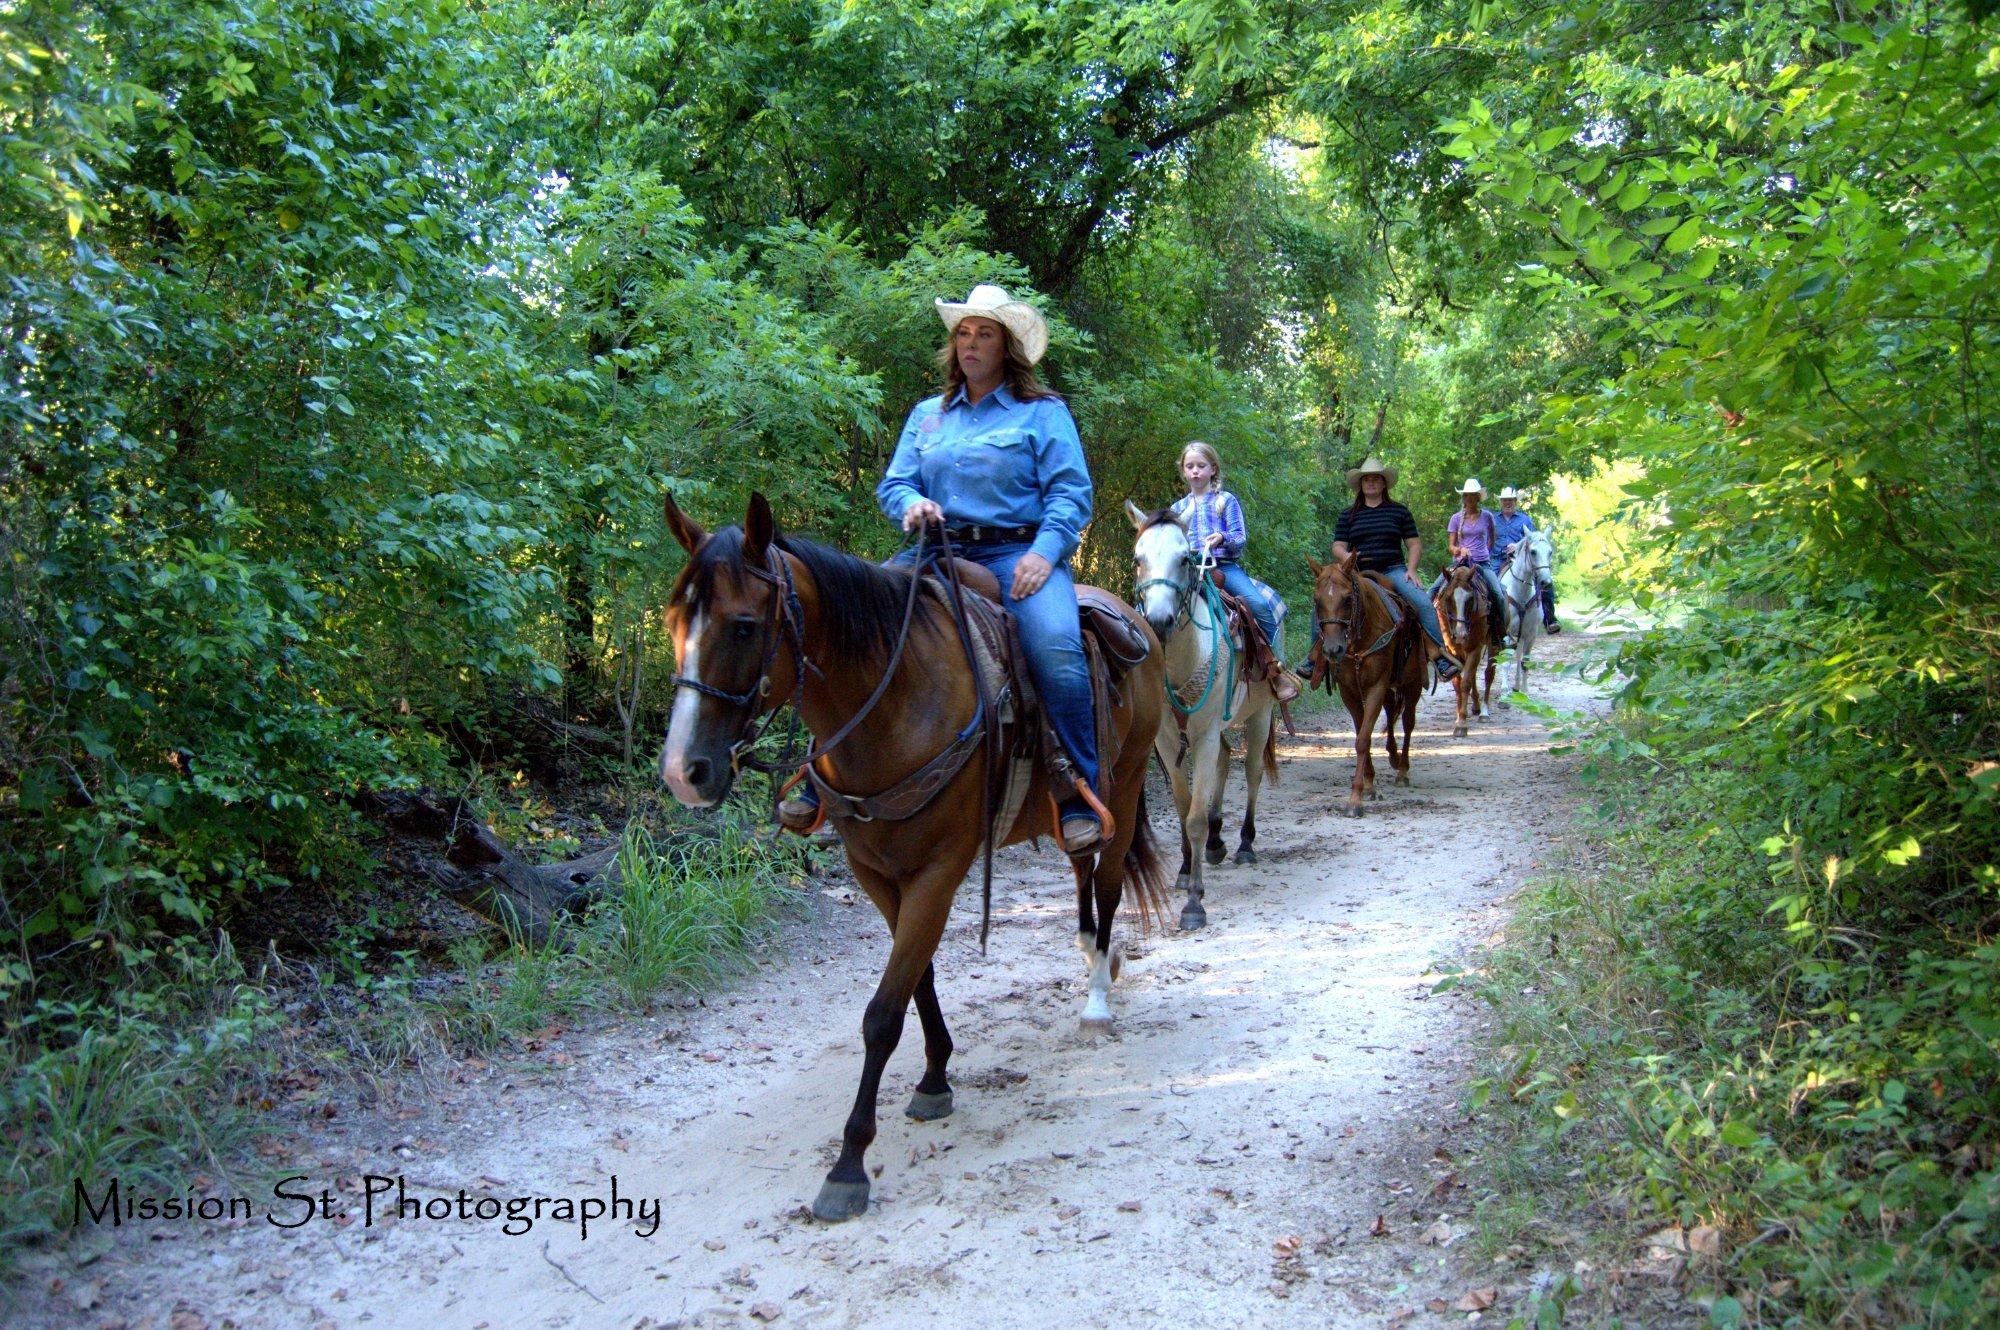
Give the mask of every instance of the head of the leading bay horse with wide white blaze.
[(796, 652), (778, 650), (798, 644), (792, 570), (762, 494), (750, 496), (740, 528), (714, 534), (668, 494), (666, 526), (688, 550), (688, 566), (666, 608), (680, 674), (660, 780), (682, 804), (708, 808), (728, 796), (758, 716), (782, 706), (796, 682)]

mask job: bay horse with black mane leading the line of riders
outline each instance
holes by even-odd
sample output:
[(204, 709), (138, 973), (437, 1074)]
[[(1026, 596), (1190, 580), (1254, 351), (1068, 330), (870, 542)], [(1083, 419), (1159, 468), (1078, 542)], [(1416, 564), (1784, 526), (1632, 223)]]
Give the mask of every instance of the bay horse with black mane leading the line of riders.
[[(1060, 844), (1056, 804), (1042, 764), (1022, 762), (1032, 784), (1018, 802), (1010, 798), (1012, 816), (994, 816), (992, 766), (1016, 752), (1022, 708), (1004, 712), (974, 674), (968, 656), (976, 648), (960, 638), (964, 620), (936, 580), (780, 534), (762, 494), (750, 496), (740, 528), (714, 534), (668, 496), (666, 524), (690, 558), (666, 610), (680, 674), (660, 754), (662, 780), (692, 808), (720, 802), (760, 722), (768, 724), (776, 708), (792, 702), (814, 736), (830, 736), (810, 758), (822, 806), (842, 808), (834, 824), (848, 866), (890, 928), (888, 966), (862, 1016), (860, 1090), (840, 1158), (812, 1202), (818, 1218), (846, 1220), (868, 1208), (864, 1154), (876, 1136), (876, 1094), (912, 998), (924, 1028), (924, 1076), (904, 1112), (920, 1122), (952, 1112), (946, 1074), (952, 1036), (938, 1006), (932, 956), (952, 896), (986, 842), (986, 822), (1004, 822), (994, 844), (1030, 836), (1054, 836)], [(1124, 614), (1134, 622), (1130, 610)], [(1142, 924), (1166, 906), (1164, 864), (1144, 806), (1146, 754), (1162, 706), (1160, 646), (1144, 622), (1134, 626), (1144, 656), (1130, 666), (1108, 720), (1098, 726), (1116, 748), (1116, 762), (1104, 750), (1112, 816), (1096, 858), (1072, 860), (1076, 944), (1090, 968), (1086, 1030), (1110, 1026), (1108, 990), (1122, 964), (1112, 918), (1126, 886)], [(980, 750), (986, 762), (970, 760)], [(944, 778), (950, 760), (960, 766)], [(1010, 796), (1020, 788), (1010, 782)], [(878, 794), (842, 794), (848, 790)]]

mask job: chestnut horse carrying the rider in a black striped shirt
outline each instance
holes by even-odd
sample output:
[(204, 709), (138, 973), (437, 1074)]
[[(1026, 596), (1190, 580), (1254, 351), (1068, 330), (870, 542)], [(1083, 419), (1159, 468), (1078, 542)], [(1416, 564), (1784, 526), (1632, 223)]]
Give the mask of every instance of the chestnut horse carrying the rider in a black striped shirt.
[[(1394, 784), (1410, 784), (1410, 730), (1416, 728), (1416, 702), (1424, 696), (1428, 664), (1424, 660), (1424, 628), (1410, 606), (1398, 604), (1394, 590), (1364, 578), (1348, 554), (1338, 564), (1306, 564), (1312, 568), (1312, 614), (1318, 636), (1312, 644), (1314, 682), (1340, 684), (1340, 700), (1354, 718), (1354, 786), (1348, 790), (1348, 816), (1362, 816), (1362, 798), (1382, 798), (1374, 788), (1374, 722), (1382, 716), (1388, 738), (1388, 764)], [(1332, 676), (1328, 680), (1328, 674)], [(1396, 746), (1396, 720), (1402, 718), (1402, 748)]]

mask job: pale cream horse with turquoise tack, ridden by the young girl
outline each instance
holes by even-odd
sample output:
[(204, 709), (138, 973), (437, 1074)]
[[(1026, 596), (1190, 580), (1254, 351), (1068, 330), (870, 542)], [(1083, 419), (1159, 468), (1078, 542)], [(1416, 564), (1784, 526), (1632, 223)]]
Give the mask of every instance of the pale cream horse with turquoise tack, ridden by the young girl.
[[(1244, 726), (1250, 798), (1244, 804), (1236, 862), (1254, 864), (1258, 784), (1266, 772), (1272, 780), (1278, 778), (1278, 752), (1272, 744), (1276, 702), (1270, 684), (1246, 684), (1236, 676), (1242, 636), (1222, 616), (1222, 600), (1208, 594), (1208, 576), (1188, 544), (1188, 528), (1168, 510), (1146, 512), (1130, 500), (1126, 516), (1138, 532), (1132, 546), (1132, 570), (1138, 576), (1132, 600), (1166, 652), (1168, 706), (1180, 718), (1180, 724), (1162, 724), (1154, 740), (1160, 766), (1174, 782), (1174, 808), (1180, 812), (1180, 876), (1174, 890), (1188, 894), (1180, 906), (1180, 926), (1202, 928), (1208, 922), (1202, 906), (1202, 858), (1220, 864), (1228, 854), (1222, 844), (1222, 790), (1230, 780), (1230, 750), (1222, 742), (1222, 730), (1232, 720)], [(1284, 658), (1282, 638), (1272, 642), (1272, 650)], [(1198, 838), (1200, 856), (1194, 854)]]

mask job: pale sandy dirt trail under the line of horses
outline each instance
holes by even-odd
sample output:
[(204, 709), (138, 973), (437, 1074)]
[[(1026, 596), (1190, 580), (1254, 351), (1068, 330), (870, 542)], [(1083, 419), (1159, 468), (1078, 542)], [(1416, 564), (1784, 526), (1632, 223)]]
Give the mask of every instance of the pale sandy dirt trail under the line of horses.
[[(1586, 700), (1552, 668), (1576, 650), (1578, 634), (1540, 642), (1536, 698)], [(1414, 786), (1384, 784), (1360, 822), (1334, 816), (1352, 770), (1344, 712), (1288, 740), (1258, 818), (1262, 862), (1210, 870), (1204, 932), (1134, 948), (1108, 1040), (1076, 1032), (1068, 872), (1052, 852), (1006, 852), (990, 954), (976, 884), (938, 954), (958, 1110), (932, 1124), (900, 1112), (922, 1070), (912, 1016), (884, 1080), (874, 1204), (856, 1222), (802, 1214), (854, 1094), (862, 1004), (886, 954), (880, 918), (836, 900), (836, 882), (782, 962), (704, 1006), (568, 1036), (540, 1054), (558, 1066), (462, 1072), (420, 1116), (336, 1122), (278, 1160), (312, 1190), (400, 1174), (426, 1200), (604, 1196), (616, 1174), (622, 1196), (664, 1200), (652, 1236), (610, 1220), (588, 1240), (546, 1220), (524, 1236), (380, 1214), (364, 1228), (356, 1196), (340, 1198), (346, 1226), (284, 1232), (262, 1218), (266, 1188), (246, 1224), (126, 1226), (40, 1320), (1426, 1326), (1462, 1324), (1438, 1306), (1492, 1284), (1504, 1308), (1508, 1276), (1470, 1238), (1424, 1242), (1444, 1236), (1440, 1216), (1452, 1234), (1470, 1228), (1454, 1156), (1476, 1018), (1470, 1000), (1432, 996), (1426, 972), (1498, 928), (1536, 834), (1574, 796), (1532, 716), (1500, 710), (1452, 740), (1450, 708), (1448, 690), (1426, 698)], [(1240, 806), (1238, 770), (1232, 846)], [(1386, 1232), (1372, 1234), (1378, 1216)], [(200, 1320), (172, 1320), (176, 1306)]]

